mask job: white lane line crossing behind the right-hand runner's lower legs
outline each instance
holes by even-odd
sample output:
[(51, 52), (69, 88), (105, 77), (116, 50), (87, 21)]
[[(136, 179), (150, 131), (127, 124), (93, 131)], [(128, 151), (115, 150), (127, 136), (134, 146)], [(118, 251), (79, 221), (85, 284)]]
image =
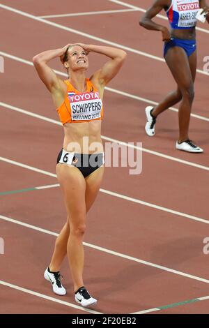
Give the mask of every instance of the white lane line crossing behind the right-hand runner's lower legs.
[[(20, 57), (13, 56), (12, 54), (8, 54), (6, 52), (0, 51), (0, 55), (3, 56), (3, 57), (9, 58), (9, 59), (15, 60), (15, 61), (19, 61), (22, 64), (33, 66), (33, 63), (31, 61), (27, 61), (26, 59), (22, 59)], [(68, 75), (66, 73), (61, 72), (60, 70), (54, 70), (54, 72), (56, 74), (59, 74), (63, 77), (68, 78)], [(142, 97), (136, 96), (134, 94), (128, 94), (127, 92), (124, 92), (124, 91), (121, 91), (121, 90), (117, 90), (117, 89), (113, 89), (113, 88), (109, 88), (109, 87), (105, 87), (105, 89), (109, 92), (114, 93), (114, 94), (119, 94), (119, 95), (125, 96), (127, 98), (131, 98), (131, 99), (134, 99), (134, 100), (139, 100), (139, 101), (142, 101), (143, 103), (148, 103), (149, 105), (158, 105), (158, 103), (156, 101), (146, 99), (146, 98), (142, 98)], [(172, 112), (178, 112), (178, 109), (174, 108), (174, 107), (170, 107), (169, 110), (171, 110)], [(209, 122), (208, 117), (203, 117), (201, 115), (191, 114), (191, 117), (194, 117), (195, 119), (201, 119), (202, 121)]]

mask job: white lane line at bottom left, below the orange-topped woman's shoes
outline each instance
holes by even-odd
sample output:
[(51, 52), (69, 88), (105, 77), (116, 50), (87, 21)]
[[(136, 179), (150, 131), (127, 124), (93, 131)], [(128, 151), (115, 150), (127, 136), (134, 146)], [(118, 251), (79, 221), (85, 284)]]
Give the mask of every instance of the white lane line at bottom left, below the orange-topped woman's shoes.
[(17, 285), (13, 285), (13, 283), (7, 283), (6, 281), (1, 281), (0, 280), (0, 285), (13, 288), (15, 290), (19, 290), (20, 292), (26, 292), (26, 294), (30, 294), (36, 297), (40, 297), (41, 299), (47, 299), (47, 301), (54, 301), (55, 303), (59, 303), (61, 305), (69, 306), (70, 308), (76, 308), (77, 310), (81, 310), (84, 312), (92, 313), (92, 314), (102, 314), (101, 312), (98, 311), (93, 311), (90, 308), (83, 308), (82, 306), (78, 306), (72, 303), (69, 303), (68, 301), (61, 301), (61, 299), (56, 299), (55, 297), (50, 297), (44, 294), (40, 294), (40, 292), (34, 292), (33, 290), (29, 290), (27, 288), (22, 288)]

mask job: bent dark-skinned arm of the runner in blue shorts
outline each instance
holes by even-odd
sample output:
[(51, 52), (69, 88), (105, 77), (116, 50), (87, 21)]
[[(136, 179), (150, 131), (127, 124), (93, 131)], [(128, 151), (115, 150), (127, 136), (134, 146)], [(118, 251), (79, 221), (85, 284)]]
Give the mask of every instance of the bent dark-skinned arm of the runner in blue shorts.
[(146, 11), (144, 16), (139, 21), (141, 27), (144, 27), (145, 29), (150, 29), (153, 31), (161, 31), (163, 41), (171, 40), (171, 33), (169, 32), (169, 29), (167, 29), (167, 27), (164, 27), (163, 25), (153, 22), (152, 19), (155, 16), (157, 16), (157, 14), (160, 13), (162, 9), (167, 10), (170, 4), (171, 4), (171, 0), (156, 0), (155, 3), (153, 3), (153, 6), (151, 6)]

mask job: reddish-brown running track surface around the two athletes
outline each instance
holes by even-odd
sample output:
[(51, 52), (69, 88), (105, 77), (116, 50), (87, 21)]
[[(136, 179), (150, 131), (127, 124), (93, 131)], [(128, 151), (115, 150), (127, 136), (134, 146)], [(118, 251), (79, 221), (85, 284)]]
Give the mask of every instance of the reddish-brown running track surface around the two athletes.
[[(151, 2), (128, 1), (140, 8), (147, 8)], [(79, 1), (74, 3), (73, 10), (69, 1), (63, 1), (61, 8), (55, 0), (42, 1), (41, 7), (36, 1), (1, 3), (34, 16), (127, 8), (108, 0), (99, 4), (93, 0), (88, 6), (86, 1)], [(0, 11), (1, 51), (6, 53), (6, 73), (0, 75), (0, 101), (42, 116), (29, 116), (1, 104), (2, 193), (56, 184), (55, 159), (63, 138), (61, 126), (43, 120), (47, 117), (58, 121), (50, 95), (30, 63), (17, 61), (17, 57), (31, 62), (34, 54), (68, 42), (101, 43), (92, 39), (96, 36), (104, 39), (102, 44), (108, 44), (106, 40), (129, 47), (125, 66), (109, 87), (156, 102), (175, 87), (167, 66), (159, 60), (160, 35), (139, 28), (141, 12), (47, 18), (89, 34), (84, 37), (20, 13)], [(165, 22), (162, 18), (157, 20)], [(198, 68), (202, 71), (208, 27), (199, 27), (206, 30), (197, 31)], [(144, 55), (134, 53), (135, 50)], [(9, 54), (15, 58), (8, 58)], [(149, 54), (156, 58), (147, 57)], [(90, 61), (89, 75), (104, 59), (91, 54)], [(63, 71), (57, 61), (53, 67)], [(197, 73), (193, 113), (200, 117), (192, 117), (190, 131), (192, 139), (205, 149), (204, 154), (197, 156), (174, 149), (178, 137), (176, 112), (169, 110), (162, 115), (157, 120), (155, 138), (148, 138), (144, 133), (146, 100), (106, 91), (102, 135), (123, 142), (142, 142), (145, 149), (157, 154), (143, 153), (143, 171), (139, 176), (129, 175), (126, 168), (106, 168), (102, 188), (116, 194), (101, 192), (88, 214), (84, 278), (99, 299), (98, 306), (93, 308), (98, 313), (134, 313), (167, 304), (174, 305), (157, 313), (208, 313), (207, 300), (189, 304), (191, 299), (209, 295), (208, 258), (203, 254), (203, 239), (208, 234), (207, 83), (208, 76)], [(6, 162), (6, 158), (14, 163)], [(33, 169), (17, 166), (18, 163)], [(36, 172), (37, 168), (44, 172)], [(67, 262), (62, 269), (68, 289), (65, 297), (56, 297), (42, 278), (55, 234), (65, 222), (59, 188), (0, 197), (0, 231), (5, 241), (5, 254), (0, 255), (0, 293), (4, 300), (0, 312), (86, 313), (83, 308), (72, 307), (75, 303)], [(175, 271), (171, 272), (172, 269)], [(177, 306), (181, 301), (187, 302)]]

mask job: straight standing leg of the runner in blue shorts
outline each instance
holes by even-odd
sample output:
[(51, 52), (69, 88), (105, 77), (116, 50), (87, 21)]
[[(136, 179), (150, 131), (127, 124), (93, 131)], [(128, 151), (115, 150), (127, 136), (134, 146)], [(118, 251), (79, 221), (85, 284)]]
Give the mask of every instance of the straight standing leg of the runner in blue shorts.
[(195, 54), (193, 54), (189, 63), (185, 50), (180, 47), (170, 48), (165, 57), (167, 65), (169, 66), (183, 97), (178, 110), (179, 142), (189, 139), (189, 119), (192, 110), (192, 102), (194, 100), (194, 72), (191, 72), (190, 66), (195, 61), (195, 58)]

